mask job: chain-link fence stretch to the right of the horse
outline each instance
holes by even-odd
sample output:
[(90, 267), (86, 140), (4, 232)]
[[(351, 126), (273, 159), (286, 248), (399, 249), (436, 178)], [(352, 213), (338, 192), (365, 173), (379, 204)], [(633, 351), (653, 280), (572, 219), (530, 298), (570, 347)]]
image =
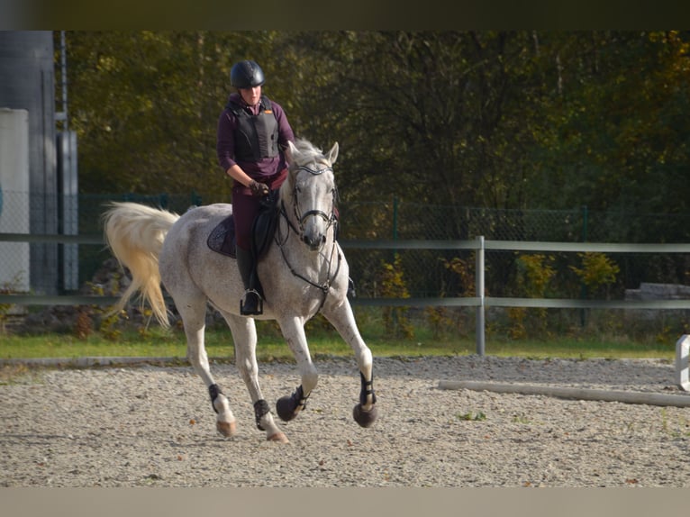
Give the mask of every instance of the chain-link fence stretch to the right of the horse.
[[(640, 214), (575, 210), (496, 210), (390, 202), (340, 207), (341, 238), (353, 240), (537, 240), (562, 242), (663, 243), (690, 241), (690, 214)], [(474, 252), (462, 250), (348, 249), (353, 277), (363, 295), (380, 291), (381, 265), (397, 253), (405, 285), (413, 297), (466, 296), (474, 278)], [(519, 296), (515, 251), (486, 252), (486, 290), (493, 296)], [(556, 269), (551, 295), (578, 297), (583, 286), (573, 268), (575, 253), (549, 254)], [(459, 262), (458, 262), (459, 259)], [(684, 254), (613, 254), (620, 274), (605, 295), (623, 298), (642, 282), (684, 284), (690, 257)], [(455, 264), (455, 267), (451, 266)], [(459, 268), (458, 268), (459, 267)], [(463, 277), (463, 268), (472, 273)], [(559, 291), (559, 292), (556, 292)], [(596, 294), (590, 294), (596, 295)], [(599, 294), (601, 295), (601, 293)]]

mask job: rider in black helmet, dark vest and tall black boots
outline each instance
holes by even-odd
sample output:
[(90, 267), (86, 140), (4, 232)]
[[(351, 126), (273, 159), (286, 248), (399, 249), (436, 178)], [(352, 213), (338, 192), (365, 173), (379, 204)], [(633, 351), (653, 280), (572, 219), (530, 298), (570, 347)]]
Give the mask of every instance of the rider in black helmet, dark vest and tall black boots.
[(277, 190), (287, 176), (287, 142), (295, 134), (283, 108), (262, 93), (264, 72), (255, 61), (235, 63), (230, 71), (230, 95), (218, 121), (216, 153), (225, 174), (234, 180), (232, 213), (237, 265), (244, 285), (242, 314), (259, 314), (260, 296), (252, 275), (251, 227), (260, 199)]

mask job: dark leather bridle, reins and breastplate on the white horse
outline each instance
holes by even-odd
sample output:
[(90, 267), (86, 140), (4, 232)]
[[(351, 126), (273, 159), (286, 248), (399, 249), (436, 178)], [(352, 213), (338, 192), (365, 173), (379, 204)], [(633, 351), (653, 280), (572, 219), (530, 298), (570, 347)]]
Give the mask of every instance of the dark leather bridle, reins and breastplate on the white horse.
[[(301, 165), (298, 167), (298, 170), (304, 170), (304, 171), (308, 172), (309, 174), (311, 174), (312, 176), (320, 176), (324, 172), (328, 172), (328, 171), (332, 172), (333, 168), (331, 168), (330, 166), (324, 167), (324, 168), (310, 168), (310, 167), (307, 167), (305, 165)], [(322, 250), (319, 249), (319, 252), (322, 253), (323, 258), (326, 259), (326, 261), (328, 262), (328, 271), (326, 274), (326, 280), (322, 284), (317, 284), (316, 282), (313, 282), (311, 279), (304, 277), (303, 275), (298, 273), (295, 270), (295, 268), (292, 267), (289, 260), (287, 259), (284, 246), (287, 242), (287, 239), (290, 237), (290, 230), (295, 232), (295, 235), (297, 235), (299, 237), (299, 240), (302, 240), (302, 236), (304, 234), (304, 222), (306, 221), (306, 219), (308, 217), (311, 217), (311, 216), (321, 217), (323, 219), (323, 221), (326, 222), (326, 231), (328, 231), (331, 228), (331, 226), (337, 226), (338, 218), (335, 215), (335, 204), (336, 204), (337, 197), (338, 197), (337, 189), (333, 188), (333, 202), (331, 204), (331, 213), (330, 214), (325, 213), (322, 210), (307, 210), (306, 212), (301, 213), (300, 209), (299, 209), (299, 203), (297, 200), (297, 186), (296, 185), (293, 188), (292, 197), (293, 197), (293, 210), (294, 210), (295, 220), (297, 221), (298, 228), (295, 228), (295, 225), (293, 224), (293, 222), (290, 221), (290, 218), (287, 216), (285, 203), (283, 200), (281, 200), (280, 201), (280, 214), (286, 220), (288, 231), (287, 231), (287, 234), (285, 235), (285, 237), (283, 237), (281, 235), (280, 225), (278, 224), (278, 228), (277, 228), (277, 232), (276, 232), (276, 239), (275, 239), (276, 244), (277, 244), (278, 248), (280, 249), (280, 253), (283, 256), (283, 260), (285, 261), (287, 268), (290, 269), (290, 272), (295, 277), (304, 280), (304, 282), (306, 282), (310, 286), (316, 287), (317, 289), (319, 289), (323, 293), (323, 299), (322, 299), (321, 305), (319, 306), (319, 311), (321, 311), (323, 304), (326, 302), (326, 296), (328, 296), (328, 292), (331, 289), (331, 285), (333, 283), (333, 280), (338, 276), (338, 272), (340, 271), (340, 262), (342, 260), (342, 256), (340, 254), (340, 251), (338, 251), (337, 257), (336, 257), (337, 263), (336, 263), (335, 272), (333, 272), (333, 274), (331, 275), (331, 268), (333, 265), (334, 255), (336, 253), (336, 250), (338, 249), (338, 246), (336, 246), (335, 238), (333, 239), (333, 244), (331, 246), (331, 252), (330, 253), (324, 254), (324, 253), (322, 253)], [(334, 229), (334, 231), (335, 230), (337, 230), (337, 228)], [(327, 255), (330, 255), (330, 257), (327, 257)]]

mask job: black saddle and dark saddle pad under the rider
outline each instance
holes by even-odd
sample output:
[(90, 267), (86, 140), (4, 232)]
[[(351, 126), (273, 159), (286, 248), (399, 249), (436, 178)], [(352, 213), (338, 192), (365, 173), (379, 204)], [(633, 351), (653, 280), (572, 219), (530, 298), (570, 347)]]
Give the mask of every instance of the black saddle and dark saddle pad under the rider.
[[(251, 225), (251, 255), (256, 264), (268, 250), (268, 244), (276, 233), (278, 221), (278, 191), (273, 190), (261, 199), (259, 213)], [(237, 240), (232, 213), (213, 228), (206, 240), (210, 249), (236, 259)]]

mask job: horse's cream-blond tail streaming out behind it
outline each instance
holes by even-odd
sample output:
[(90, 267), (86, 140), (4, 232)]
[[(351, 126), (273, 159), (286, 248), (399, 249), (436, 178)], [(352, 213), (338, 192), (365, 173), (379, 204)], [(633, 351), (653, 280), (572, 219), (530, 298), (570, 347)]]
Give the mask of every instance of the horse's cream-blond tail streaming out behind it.
[(120, 265), (132, 274), (132, 283), (112, 313), (122, 311), (139, 291), (141, 304), (147, 300), (159, 323), (168, 327), (168, 310), (160, 288), (159, 254), (179, 215), (137, 203), (113, 202), (107, 206), (110, 208), (103, 214), (105, 242)]

